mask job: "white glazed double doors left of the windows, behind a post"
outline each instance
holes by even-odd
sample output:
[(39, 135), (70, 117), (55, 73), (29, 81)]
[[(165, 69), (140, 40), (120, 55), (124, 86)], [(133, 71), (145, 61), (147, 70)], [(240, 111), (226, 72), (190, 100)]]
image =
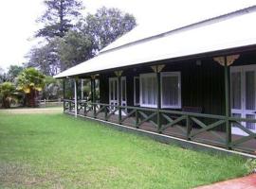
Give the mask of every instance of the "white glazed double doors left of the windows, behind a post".
[[(121, 77), (120, 79), (120, 87), (121, 87), (121, 106), (127, 105), (127, 97), (126, 97), (126, 77)], [(118, 77), (110, 77), (109, 78), (109, 104), (110, 105), (119, 105), (119, 79)], [(115, 111), (116, 107), (110, 106), (111, 111)], [(122, 114), (125, 114), (126, 110), (122, 110)], [(119, 113), (119, 112), (115, 112)]]

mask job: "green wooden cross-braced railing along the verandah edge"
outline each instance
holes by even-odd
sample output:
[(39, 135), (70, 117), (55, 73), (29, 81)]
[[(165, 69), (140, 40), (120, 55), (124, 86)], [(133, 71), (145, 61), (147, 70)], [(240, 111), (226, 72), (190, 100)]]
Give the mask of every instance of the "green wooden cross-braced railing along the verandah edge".
[[(74, 109), (74, 100), (64, 100), (64, 112), (74, 112)], [(119, 114), (119, 110), (121, 114)], [(221, 146), (253, 154), (256, 151), (256, 133), (247, 129), (242, 124), (242, 122), (256, 123), (256, 119), (115, 106), (86, 101), (78, 101), (78, 113), (83, 116), (115, 122), (120, 125), (128, 125), (137, 129), (151, 129), (158, 133), (212, 146)], [(230, 130), (233, 124), (245, 131), (247, 136), (231, 135), (228, 130)]]

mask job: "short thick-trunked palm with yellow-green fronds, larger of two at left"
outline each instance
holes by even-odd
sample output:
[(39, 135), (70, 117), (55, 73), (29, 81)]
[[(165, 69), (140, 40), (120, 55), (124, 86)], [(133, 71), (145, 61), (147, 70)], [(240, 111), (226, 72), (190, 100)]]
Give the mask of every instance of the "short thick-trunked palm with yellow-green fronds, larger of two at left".
[(18, 76), (17, 89), (27, 95), (28, 107), (36, 107), (36, 97), (45, 87), (45, 78), (45, 75), (32, 67), (25, 69)]

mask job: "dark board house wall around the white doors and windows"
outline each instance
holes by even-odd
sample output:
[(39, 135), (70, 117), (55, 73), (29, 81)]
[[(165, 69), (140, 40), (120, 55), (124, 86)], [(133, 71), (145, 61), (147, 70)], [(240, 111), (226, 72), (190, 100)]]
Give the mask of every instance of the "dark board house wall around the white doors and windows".
[[(241, 55), (232, 66), (254, 64), (254, 52)], [(225, 82), (224, 67), (212, 58), (167, 62), (162, 72), (181, 72), (182, 107), (200, 107), (204, 113), (225, 113)], [(122, 76), (127, 79), (127, 105), (134, 106), (134, 77), (143, 73), (153, 73), (150, 66), (139, 66), (123, 71)], [(108, 103), (108, 77), (115, 77), (114, 73), (101, 74), (101, 102)]]

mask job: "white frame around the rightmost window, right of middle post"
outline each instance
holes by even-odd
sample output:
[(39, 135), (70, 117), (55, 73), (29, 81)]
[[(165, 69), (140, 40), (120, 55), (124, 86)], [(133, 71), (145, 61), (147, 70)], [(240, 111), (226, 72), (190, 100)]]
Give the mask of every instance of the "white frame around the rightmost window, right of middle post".
[[(162, 93), (162, 79), (163, 77), (178, 77), (178, 104), (177, 105), (164, 105), (163, 93)], [(162, 72), (160, 73), (160, 85), (161, 85), (161, 108), (164, 109), (181, 109), (181, 77), (180, 72)]]

